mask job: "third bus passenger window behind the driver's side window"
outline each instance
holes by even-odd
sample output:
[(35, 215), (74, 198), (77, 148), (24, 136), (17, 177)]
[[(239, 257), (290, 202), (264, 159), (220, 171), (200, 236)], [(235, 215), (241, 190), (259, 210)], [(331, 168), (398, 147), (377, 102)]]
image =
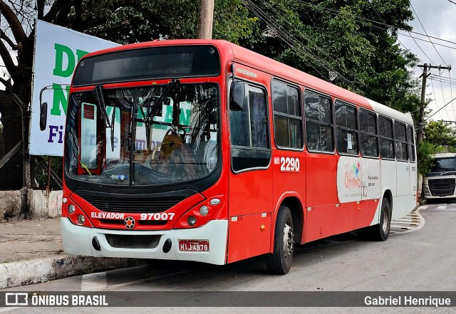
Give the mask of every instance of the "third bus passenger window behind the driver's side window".
[(337, 150), (343, 154), (358, 155), (358, 123), (356, 107), (336, 100)]

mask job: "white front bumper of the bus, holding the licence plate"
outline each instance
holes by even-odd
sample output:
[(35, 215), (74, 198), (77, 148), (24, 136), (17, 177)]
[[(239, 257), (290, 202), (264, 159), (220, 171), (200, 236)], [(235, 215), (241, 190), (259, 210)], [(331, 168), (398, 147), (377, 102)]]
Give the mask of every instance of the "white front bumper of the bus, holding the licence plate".
[[(69, 255), (199, 261), (216, 265), (223, 265), (227, 256), (227, 220), (209, 221), (204, 226), (194, 229), (135, 231), (76, 226), (70, 219), (61, 217), (61, 230), (63, 250)], [(107, 237), (113, 246), (108, 243)], [(144, 245), (135, 243), (133, 238)], [(180, 240), (209, 241), (209, 249), (180, 251)], [(153, 247), (147, 247), (151, 241), (154, 242)]]

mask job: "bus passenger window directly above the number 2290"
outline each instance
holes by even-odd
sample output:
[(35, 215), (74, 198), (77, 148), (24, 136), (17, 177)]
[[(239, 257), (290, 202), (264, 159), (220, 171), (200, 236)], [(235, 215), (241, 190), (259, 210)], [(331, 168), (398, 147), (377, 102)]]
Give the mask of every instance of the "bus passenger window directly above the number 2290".
[(272, 81), (274, 139), (278, 147), (302, 148), (302, 112), (299, 90), (278, 80)]

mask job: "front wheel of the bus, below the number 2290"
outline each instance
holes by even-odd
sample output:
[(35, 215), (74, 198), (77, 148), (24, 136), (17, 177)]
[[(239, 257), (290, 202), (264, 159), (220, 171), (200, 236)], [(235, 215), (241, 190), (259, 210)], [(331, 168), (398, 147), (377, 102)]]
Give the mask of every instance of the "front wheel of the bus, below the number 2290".
[(291, 211), (280, 206), (274, 232), (274, 251), (266, 254), (266, 268), (270, 273), (284, 275), (290, 271), (293, 261), (294, 233)]

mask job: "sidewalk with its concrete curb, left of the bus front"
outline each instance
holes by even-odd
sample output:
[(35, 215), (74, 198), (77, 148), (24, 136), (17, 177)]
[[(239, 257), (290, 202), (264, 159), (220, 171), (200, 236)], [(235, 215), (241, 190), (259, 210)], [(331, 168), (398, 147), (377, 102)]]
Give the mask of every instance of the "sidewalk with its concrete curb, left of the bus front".
[(0, 289), (140, 264), (130, 258), (66, 255), (60, 219), (0, 221)]

